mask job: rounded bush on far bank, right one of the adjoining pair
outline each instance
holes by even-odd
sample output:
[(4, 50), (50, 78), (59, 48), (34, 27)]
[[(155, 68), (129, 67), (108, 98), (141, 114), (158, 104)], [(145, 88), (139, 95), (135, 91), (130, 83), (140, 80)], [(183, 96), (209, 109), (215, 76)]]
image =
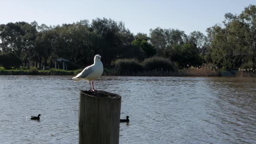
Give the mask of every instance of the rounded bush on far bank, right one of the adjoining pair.
[(142, 66), (145, 70), (157, 70), (157, 71), (173, 71), (174, 64), (169, 60), (161, 57), (152, 57), (145, 59), (142, 62)]

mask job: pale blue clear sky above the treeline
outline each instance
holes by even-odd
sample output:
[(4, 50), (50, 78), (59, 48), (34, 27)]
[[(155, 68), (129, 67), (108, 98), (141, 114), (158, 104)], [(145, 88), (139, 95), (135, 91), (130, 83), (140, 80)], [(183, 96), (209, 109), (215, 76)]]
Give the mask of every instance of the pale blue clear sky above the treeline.
[(249, 4), (256, 0), (0, 0), (0, 24), (35, 20), (56, 26), (105, 17), (124, 22), (135, 35), (158, 26), (206, 34), (225, 13), (240, 14)]

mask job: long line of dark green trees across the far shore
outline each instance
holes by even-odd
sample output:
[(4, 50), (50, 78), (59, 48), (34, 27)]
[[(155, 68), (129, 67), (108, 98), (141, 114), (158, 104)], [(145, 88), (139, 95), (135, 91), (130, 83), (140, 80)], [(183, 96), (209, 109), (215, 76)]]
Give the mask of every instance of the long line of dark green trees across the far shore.
[(102, 56), (107, 67), (117, 59), (142, 62), (158, 56), (176, 62), (180, 69), (210, 62), (223, 69), (251, 63), (254, 69), (256, 6), (249, 5), (239, 15), (226, 13), (223, 26), (209, 27), (207, 36), (160, 27), (150, 29), (149, 36), (134, 35), (123, 22), (106, 18), (62, 26), (38, 25), (35, 21), (0, 25), (0, 55), (16, 56), (21, 66), (53, 66), (54, 59), (64, 58), (77, 69), (91, 64), (95, 54)]

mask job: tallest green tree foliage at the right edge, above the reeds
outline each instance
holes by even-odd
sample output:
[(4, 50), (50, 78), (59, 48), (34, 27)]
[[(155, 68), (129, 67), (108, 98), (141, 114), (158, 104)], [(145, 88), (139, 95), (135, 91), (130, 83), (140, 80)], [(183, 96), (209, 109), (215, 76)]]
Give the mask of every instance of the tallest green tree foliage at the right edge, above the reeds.
[(256, 6), (249, 5), (240, 15), (225, 14), (224, 27), (207, 29), (211, 42), (211, 59), (223, 69), (234, 69), (242, 63), (256, 63)]

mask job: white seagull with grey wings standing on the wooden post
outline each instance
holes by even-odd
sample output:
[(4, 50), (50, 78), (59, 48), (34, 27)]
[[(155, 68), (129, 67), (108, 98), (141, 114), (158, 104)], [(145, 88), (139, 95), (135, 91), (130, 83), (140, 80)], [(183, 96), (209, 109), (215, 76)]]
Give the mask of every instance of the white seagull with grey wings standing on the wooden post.
[[(100, 61), (101, 56), (96, 55), (94, 57), (94, 64), (87, 66), (82, 72), (78, 75), (73, 77), (72, 79), (79, 81), (79, 80), (86, 80), (90, 84), (90, 91), (95, 91), (93, 80), (98, 79), (103, 73), (103, 64)], [(92, 89), (91, 89), (91, 81), (92, 81)]]

